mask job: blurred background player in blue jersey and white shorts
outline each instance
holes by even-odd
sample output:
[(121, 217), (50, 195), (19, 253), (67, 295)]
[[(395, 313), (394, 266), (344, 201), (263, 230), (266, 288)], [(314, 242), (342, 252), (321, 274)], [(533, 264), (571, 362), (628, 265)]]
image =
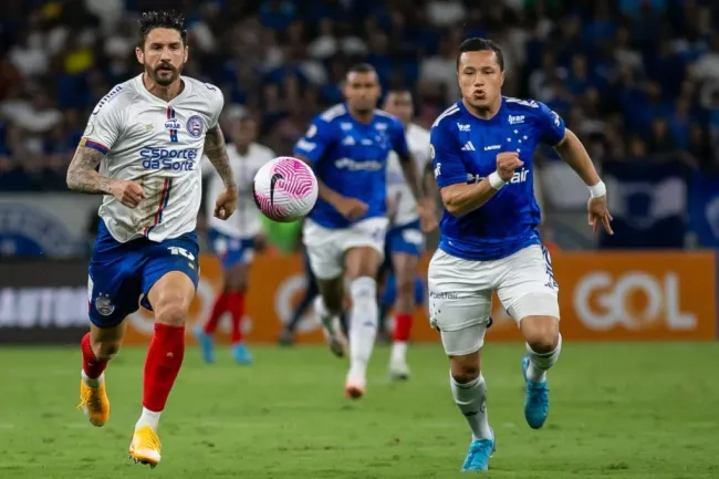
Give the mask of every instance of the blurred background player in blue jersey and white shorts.
[[(344, 85), (346, 102), (315, 117), (294, 149), (295, 156), (312, 166), (320, 185), (317, 204), (304, 222), (303, 241), (320, 288), (315, 312), (338, 356), (345, 353), (340, 327), (343, 273), (350, 280), (351, 366), (345, 395), (353, 398), (364, 394), (377, 334), (375, 278), (387, 230), (385, 167), (390, 150), (399, 155), (407, 184), (413, 195), (419, 196), (404, 126), (375, 108), (379, 90), (374, 67), (352, 67)], [(427, 210), (419, 210), (427, 219)]]

